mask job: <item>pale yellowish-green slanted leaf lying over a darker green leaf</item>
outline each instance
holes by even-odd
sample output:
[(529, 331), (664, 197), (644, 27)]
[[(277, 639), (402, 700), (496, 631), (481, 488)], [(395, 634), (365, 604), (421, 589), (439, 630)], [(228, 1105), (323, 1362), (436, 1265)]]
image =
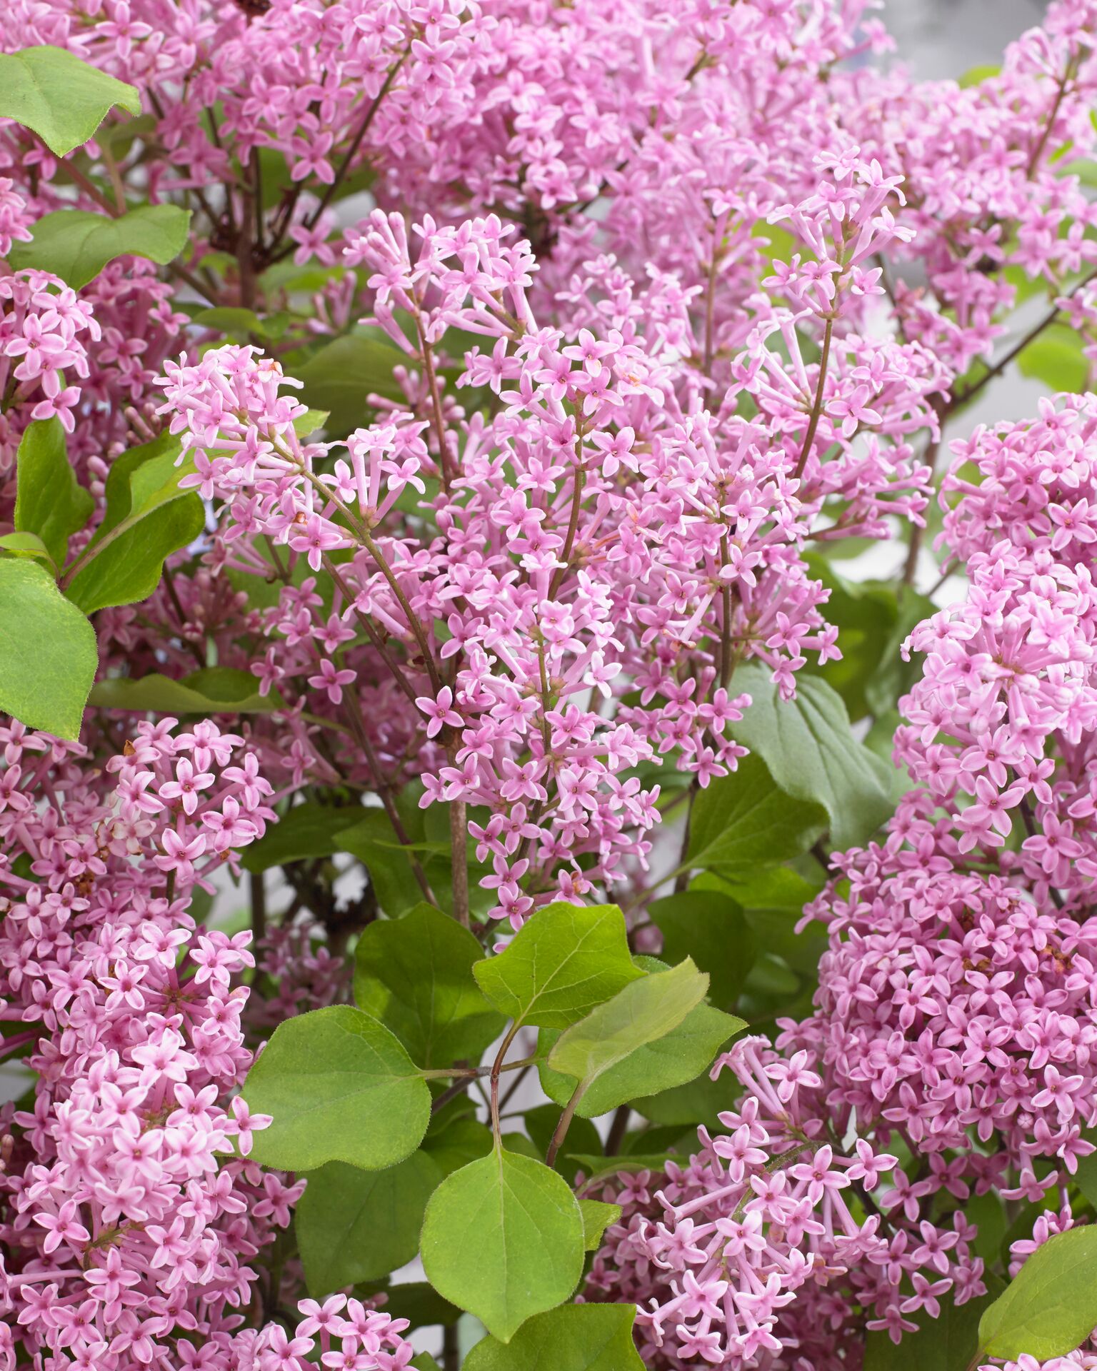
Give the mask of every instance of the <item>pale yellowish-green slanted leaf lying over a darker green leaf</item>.
[(677, 1028), (708, 988), (709, 978), (688, 957), (671, 971), (634, 980), (566, 1028), (548, 1053), (548, 1065), (575, 1076), (586, 1091), (638, 1047)]

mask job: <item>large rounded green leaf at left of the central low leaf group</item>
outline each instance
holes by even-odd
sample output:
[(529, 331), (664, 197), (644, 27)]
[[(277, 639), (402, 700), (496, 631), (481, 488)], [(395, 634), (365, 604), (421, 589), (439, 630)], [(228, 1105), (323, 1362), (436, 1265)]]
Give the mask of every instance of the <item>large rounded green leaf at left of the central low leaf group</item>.
[(418, 1148), (431, 1117), (431, 1091), (399, 1038), (347, 1005), (280, 1024), (244, 1097), (274, 1120), (255, 1134), (252, 1156), (285, 1171), (392, 1167)]

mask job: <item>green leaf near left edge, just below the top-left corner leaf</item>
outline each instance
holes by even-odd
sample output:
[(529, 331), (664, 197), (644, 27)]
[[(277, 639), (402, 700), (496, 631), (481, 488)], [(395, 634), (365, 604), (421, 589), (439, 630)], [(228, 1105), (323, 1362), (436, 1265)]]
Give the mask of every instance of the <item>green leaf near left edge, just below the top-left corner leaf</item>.
[(186, 247), (189, 228), (191, 211), (177, 204), (141, 204), (117, 219), (88, 210), (53, 210), (34, 223), (30, 243), (12, 245), (8, 259), (16, 269), (52, 271), (78, 291), (119, 256), (163, 266)]

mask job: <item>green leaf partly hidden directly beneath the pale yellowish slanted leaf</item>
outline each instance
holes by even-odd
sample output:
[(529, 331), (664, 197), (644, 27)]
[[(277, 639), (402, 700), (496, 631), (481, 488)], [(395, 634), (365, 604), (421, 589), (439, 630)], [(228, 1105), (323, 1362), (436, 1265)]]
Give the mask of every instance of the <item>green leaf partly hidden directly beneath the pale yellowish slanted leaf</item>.
[[(743, 1020), (725, 1015), (710, 1005), (697, 1005), (664, 1038), (646, 1043), (629, 1053), (616, 1067), (610, 1067), (583, 1094), (576, 1112), (583, 1119), (596, 1119), (618, 1105), (635, 1102), (644, 1113), (649, 1102), (658, 1100), (662, 1091), (671, 1091), (694, 1080), (708, 1071), (724, 1043), (743, 1028)], [(540, 1047), (547, 1049), (554, 1038), (551, 1030), (540, 1032)], [(551, 1061), (551, 1056), (548, 1058)], [(544, 1093), (557, 1104), (566, 1104), (575, 1091), (570, 1076), (540, 1067), (540, 1083)], [(664, 1109), (668, 1115), (660, 1121), (680, 1121), (677, 1111)], [(673, 1115), (673, 1117), (671, 1117)], [(658, 1117), (658, 1106), (646, 1117)], [(698, 1120), (701, 1121), (701, 1120)]]

